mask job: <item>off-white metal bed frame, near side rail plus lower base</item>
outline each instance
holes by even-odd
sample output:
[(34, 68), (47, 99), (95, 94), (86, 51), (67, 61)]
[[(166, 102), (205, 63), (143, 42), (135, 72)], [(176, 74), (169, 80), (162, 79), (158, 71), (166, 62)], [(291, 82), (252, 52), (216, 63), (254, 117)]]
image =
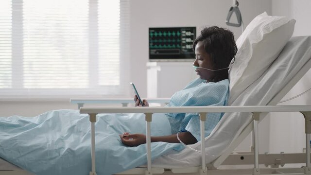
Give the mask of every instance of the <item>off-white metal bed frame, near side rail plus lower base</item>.
[[(252, 112), (253, 113), (253, 122), (250, 123), (242, 132), (242, 134), (235, 140), (230, 146), (229, 149), (225, 151), (225, 153), (218, 157), (211, 164), (205, 163), (205, 141), (201, 142), (201, 152), (202, 152), (202, 163), (201, 166), (198, 167), (187, 167), (187, 168), (172, 168), (172, 169), (164, 169), (164, 168), (152, 168), (151, 166), (151, 139), (150, 139), (150, 123), (152, 121), (153, 113), (190, 113), (190, 112), (198, 112), (200, 114), (201, 120), (201, 140), (205, 140), (204, 137), (204, 121), (206, 120), (206, 114), (208, 112)], [(286, 161), (292, 161), (294, 163), (306, 163), (304, 168), (269, 168), (269, 169), (261, 169), (259, 168), (259, 143), (258, 143), (258, 123), (260, 119), (260, 114), (267, 114), (267, 112), (300, 112), (305, 117), (306, 123), (306, 155), (305, 161), (301, 160), (303, 155), (301, 154), (282, 154), (282, 158), (276, 158), (273, 162), (273, 158), (278, 155), (266, 155), (264, 158), (267, 162), (261, 161), (263, 164), (285, 164), (288, 163)], [(146, 136), (147, 136), (147, 168), (134, 168), (119, 174), (199, 174), (199, 175), (225, 175), (225, 174), (252, 174), (252, 175), (260, 175), (264, 174), (273, 174), (273, 172), (283, 172), (287, 174), (295, 174), (295, 175), (303, 175), (310, 174), (311, 175), (311, 164), (310, 164), (310, 134), (311, 134), (311, 105), (292, 105), (292, 106), (187, 106), (187, 107), (81, 107), (80, 113), (89, 114), (89, 120), (91, 122), (91, 157), (92, 157), (92, 170), (89, 173), (90, 175), (96, 175), (95, 172), (95, 122), (96, 115), (99, 113), (144, 113), (146, 120)], [(253, 126), (253, 127), (252, 127)], [(228, 150), (230, 148), (237, 146), (237, 143), (240, 142), (243, 138), (245, 138), (251, 131), (253, 130), (253, 141), (254, 141), (254, 152), (253, 154), (244, 154), (235, 157), (230, 157), (231, 160), (227, 160), (228, 163), (231, 161), (236, 161), (237, 157), (245, 157), (250, 158), (254, 157), (254, 168), (247, 170), (236, 169), (233, 173), (233, 170), (217, 170), (217, 168), (225, 161), (228, 157)], [(203, 134), (202, 134), (203, 133)], [(230, 151), (231, 152), (231, 151)], [(309, 154), (307, 154), (309, 153)], [(263, 160), (263, 156), (261, 156)], [(243, 161), (240, 161), (242, 163)], [(292, 163), (291, 162), (291, 163)], [(208, 169), (207, 169), (208, 168)]]

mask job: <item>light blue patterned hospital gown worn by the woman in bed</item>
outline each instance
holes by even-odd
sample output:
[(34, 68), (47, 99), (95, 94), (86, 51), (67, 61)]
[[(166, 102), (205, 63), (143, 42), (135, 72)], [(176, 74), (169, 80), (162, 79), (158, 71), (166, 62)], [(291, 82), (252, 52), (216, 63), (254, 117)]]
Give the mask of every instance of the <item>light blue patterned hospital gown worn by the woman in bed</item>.
[[(167, 106), (224, 106), (228, 101), (229, 80), (205, 83), (206, 80), (196, 79), (184, 89), (177, 91)], [(196, 140), (200, 139), (200, 118), (198, 113), (167, 113), (172, 133), (189, 131)], [(223, 113), (209, 113), (205, 121), (205, 137), (214, 129)]]

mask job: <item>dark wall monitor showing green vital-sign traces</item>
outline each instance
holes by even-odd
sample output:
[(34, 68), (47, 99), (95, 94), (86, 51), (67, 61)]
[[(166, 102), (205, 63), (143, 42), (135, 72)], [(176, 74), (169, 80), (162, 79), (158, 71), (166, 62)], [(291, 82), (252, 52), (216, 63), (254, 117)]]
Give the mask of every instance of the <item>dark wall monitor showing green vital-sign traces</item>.
[(194, 59), (195, 27), (149, 28), (149, 59)]

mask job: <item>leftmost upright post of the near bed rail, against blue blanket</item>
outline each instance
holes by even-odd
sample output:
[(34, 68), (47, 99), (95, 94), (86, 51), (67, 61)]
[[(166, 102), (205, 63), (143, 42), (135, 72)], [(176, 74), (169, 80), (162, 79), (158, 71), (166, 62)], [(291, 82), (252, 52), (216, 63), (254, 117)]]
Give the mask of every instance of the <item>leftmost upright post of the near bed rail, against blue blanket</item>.
[(95, 122), (97, 114), (88, 114), (89, 121), (91, 122), (91, 158), (92, 158), (92, 171), (89, 175), (96, 175), (95, 169)]

